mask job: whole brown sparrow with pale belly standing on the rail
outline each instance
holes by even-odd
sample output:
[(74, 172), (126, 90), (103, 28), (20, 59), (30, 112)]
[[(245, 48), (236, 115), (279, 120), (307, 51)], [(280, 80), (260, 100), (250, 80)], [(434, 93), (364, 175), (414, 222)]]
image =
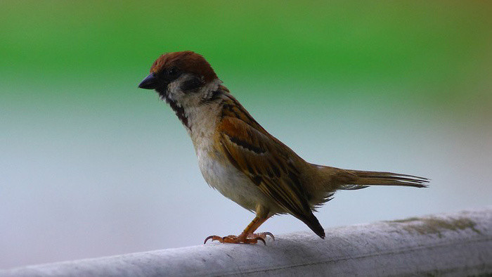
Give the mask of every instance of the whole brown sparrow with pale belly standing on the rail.
[(306, 162), (254, 120), (199, 53), (164, 53), (138, 84), (169, 104), (186, 131), (205, 181), (255, 217), (238, 236), (209, 236), (219, 243), (265, 243), (254, 233), (268, 218), (291, 214), (325, 238), (313, 212), (335, 191), (368, 186), (424, 188), (429, 179), (392, 172), (340, 169)]

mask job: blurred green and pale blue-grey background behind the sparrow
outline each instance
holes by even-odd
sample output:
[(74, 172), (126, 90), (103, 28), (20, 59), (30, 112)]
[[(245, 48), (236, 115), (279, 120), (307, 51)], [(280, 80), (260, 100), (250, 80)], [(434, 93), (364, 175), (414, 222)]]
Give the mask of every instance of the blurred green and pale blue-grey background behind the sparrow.
[[(193, 50), (310, 162), (430, 188), (337, 193), (325, 227), (491, 205), (487, 1), (1, 1), (0, 268), (198, 245), (253, 215), (136, 89)], [(272, 233), (309, 231), (274, 217)], [(260, 231), (261, 231), (260, 230)]]

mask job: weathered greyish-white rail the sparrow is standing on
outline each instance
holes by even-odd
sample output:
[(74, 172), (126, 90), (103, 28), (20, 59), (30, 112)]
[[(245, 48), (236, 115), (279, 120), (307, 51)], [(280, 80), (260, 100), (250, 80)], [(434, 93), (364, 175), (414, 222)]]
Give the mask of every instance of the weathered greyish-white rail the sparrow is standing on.
[(492, 274), (492, 207), (268, 239), (25, 266), (0, 276), (480, 276)]

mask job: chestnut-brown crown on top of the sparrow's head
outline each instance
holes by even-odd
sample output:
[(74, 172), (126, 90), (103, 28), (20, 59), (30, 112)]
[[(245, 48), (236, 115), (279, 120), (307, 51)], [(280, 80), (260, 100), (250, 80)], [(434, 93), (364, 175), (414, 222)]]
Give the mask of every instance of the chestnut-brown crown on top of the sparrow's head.
[(203, 76), (205, 82), (210, 82), (217, 78), (212, 66), (203, 58), (202, 55), (193, 51), (180, 51), (164, 53), (155, 60), (150, 73), (159, 72), (165, 68), (176, 67), (183, 72), (193, 73)]

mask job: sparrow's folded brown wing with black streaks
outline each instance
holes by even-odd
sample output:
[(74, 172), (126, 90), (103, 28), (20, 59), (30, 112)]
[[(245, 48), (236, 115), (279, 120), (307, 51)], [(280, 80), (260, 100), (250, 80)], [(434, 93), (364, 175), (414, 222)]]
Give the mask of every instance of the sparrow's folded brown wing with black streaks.
[(283, 207), (285, 212), (299, 219), (312, 214), (299, 170), (292, 160), (299, 157), (268, 134), (242, 109), (235, 111), (234, 116), (222, 117), (219, 125), (221, 150), (231, 164), (248, 176), (260, 191)]

